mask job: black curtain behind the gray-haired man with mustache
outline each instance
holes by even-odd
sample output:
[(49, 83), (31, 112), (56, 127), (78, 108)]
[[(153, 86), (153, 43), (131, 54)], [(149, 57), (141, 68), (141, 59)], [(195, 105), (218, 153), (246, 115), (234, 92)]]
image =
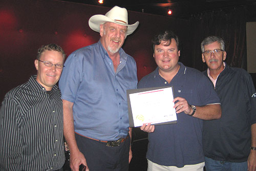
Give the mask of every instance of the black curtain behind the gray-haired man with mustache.
[(207, 67), (202, 62), (201, 42), (210, 35), (220, 36), (225, 41), (226, 62), (231, 67), (247, 69), (246, 61), (246, 7), (232, 7), (193, 15), (191, 22), (191, 42), (193, 67), (203, 71)]

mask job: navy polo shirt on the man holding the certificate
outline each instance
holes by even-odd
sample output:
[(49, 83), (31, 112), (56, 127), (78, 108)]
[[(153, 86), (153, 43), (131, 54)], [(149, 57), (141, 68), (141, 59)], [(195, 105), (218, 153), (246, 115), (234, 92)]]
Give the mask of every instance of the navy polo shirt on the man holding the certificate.
[[(179, 65), (180, 69), (170, 83), (159, 75), (157, 68), (140, 80), (138, 88), (173, 86), (174, 96), (185, 98), (189, 104), (203, 106), (220, 103), (205, 75), (185, 67), (181, 62)], [(166, 108), (173, 108), (173, 105)], [(160, 165), (177, 167), (204, 162), (202, 126), (203, 120), (184, 112), (177, 114), (176, 124), (156, 125), (154, 133), (148, 134), (146, 158)]]

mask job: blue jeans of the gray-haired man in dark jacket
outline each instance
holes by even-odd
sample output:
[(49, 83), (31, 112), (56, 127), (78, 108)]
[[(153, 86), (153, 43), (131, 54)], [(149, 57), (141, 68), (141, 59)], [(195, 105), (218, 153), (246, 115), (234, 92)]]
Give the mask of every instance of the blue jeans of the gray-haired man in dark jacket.
[(226, 161), (213, 160), (205, 157), (206, 171), (247, 171), (247, 161), (234, 163)]

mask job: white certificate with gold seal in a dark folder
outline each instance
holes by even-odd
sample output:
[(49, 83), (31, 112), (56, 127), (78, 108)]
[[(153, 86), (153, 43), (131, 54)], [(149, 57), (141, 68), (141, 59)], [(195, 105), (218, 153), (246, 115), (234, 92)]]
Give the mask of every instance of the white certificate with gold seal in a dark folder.
[(131, 127), (177, 123), (172, 87), (127, 90)]

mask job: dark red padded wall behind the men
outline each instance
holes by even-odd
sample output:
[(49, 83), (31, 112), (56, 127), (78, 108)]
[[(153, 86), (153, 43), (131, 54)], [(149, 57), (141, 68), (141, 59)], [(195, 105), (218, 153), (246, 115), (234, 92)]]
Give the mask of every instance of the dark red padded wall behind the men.
[[(35, 74), (34, 60), (41, 45), (55, 43), (67, 55), (97, 42), (99, 33), (88, 26), (94, 14), (105, 14), (110, 8), (61, 1), (15, 1), (0, 3), (0, 101), (4, 95)], [(138, 79), (155, 70), (151, 39), (159, 30), (173, 30), (183, 42), (180, 60), (187, 66), (190, 25), (187, 20), (129, 11), (130, 24), (140, 22), (127, 36), (123, 49), (132, 55), (138, 67)], [(185, 41), (186, 40), (186, 41)], [(186, 58), (185, 58), (186, 56)]]

